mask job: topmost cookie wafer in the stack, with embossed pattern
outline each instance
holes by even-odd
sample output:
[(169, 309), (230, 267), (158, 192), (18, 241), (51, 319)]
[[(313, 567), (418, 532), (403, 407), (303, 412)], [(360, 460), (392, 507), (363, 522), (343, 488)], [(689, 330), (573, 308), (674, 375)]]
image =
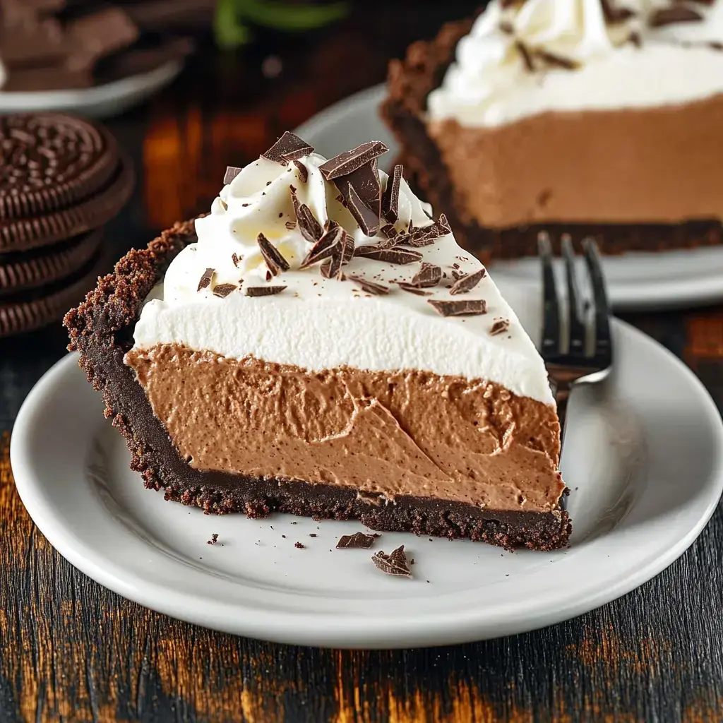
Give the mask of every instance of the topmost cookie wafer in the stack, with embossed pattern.
[(68, 208), (105, 187), (116, 141), (90, 121), (57, 113), (0, 116), (0, 219)]

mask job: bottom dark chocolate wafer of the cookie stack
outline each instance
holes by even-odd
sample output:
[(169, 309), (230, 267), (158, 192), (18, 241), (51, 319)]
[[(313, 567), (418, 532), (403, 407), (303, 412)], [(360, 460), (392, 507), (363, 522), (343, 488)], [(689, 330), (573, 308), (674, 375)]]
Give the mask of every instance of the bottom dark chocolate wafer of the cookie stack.
[(93, 287), (110, 265), (102, 251), (70, 279), (61, 279), (31, 291), (0, 298), (0, 338), (47, 326), (60, 320)]

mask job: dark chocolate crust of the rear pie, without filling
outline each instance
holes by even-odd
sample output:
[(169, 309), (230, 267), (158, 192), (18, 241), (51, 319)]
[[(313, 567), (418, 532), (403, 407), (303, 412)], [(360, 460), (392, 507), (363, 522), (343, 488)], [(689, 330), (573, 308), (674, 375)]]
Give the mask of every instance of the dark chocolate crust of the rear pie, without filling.
[(403, 60), (393, 60), (388, 73), (388, 98), (381, 114), (401, 146), (398, 163), (403, 163), (413, 187), (444, 212), (459, 244), (483, 262), (491, 258), (536, 255), (537, 235), (547, 231), (556, 252), (562, 234), (570, 234), (580, 247), (582, 239), (593, 236), (604, 253), (662, 251), (714, 246), (723, 243), (718, 219), (685, 223), (539, 223), (511, 228), (487, 228), (469, 219), (455, 193), (440, 150), (427, 134), (424, 112), (427, 95), (439, 87), (454, 59), (458, 41), (471, 30), (473, 19), (442, 26), (436, 38), (409, 46)]

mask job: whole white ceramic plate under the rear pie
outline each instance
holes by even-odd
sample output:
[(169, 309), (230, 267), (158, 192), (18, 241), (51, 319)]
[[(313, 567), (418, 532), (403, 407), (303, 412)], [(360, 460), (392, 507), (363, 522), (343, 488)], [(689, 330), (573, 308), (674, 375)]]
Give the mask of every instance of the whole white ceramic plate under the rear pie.
[[(328, 156), (382, 140), (390, 148), (382, 167), (389, 166), (397, 144), (377, 112), (384, 96), (383, 85), (363, 90), (309, 119), (296, 133)], [(492, 268), (497, 281), (539, 292), (536, 259), (501, 261)], [(669, 309), (723, 299), (723, 247), (607, 257), (603, 268), (615, 309)]]

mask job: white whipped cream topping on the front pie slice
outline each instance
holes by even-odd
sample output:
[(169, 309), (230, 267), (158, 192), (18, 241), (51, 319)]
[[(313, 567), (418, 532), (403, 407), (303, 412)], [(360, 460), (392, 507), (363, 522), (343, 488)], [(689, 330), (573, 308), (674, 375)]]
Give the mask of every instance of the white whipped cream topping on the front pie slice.
[[(489, 276), (466, 294), (450, 295), (456, 276), (482, 268), (453, 234), (407, 249), (422, 254), (408, 265), (355, 256), (343, 268), (345, 280), (324, 278), (318, 263), (300, 269), (314, 244), (296, 223), (291, 186), (322, 226), (336, 221), (354, 236), (356, 247), (385, 236), (364, 235), (338, 200), (333, 181), (322, 175), (325, 158), (310, 153), (298, 160), (303, 170), (259, 158), (223, 187), (210, 215), (196, 222), (198, 242), (171, 262), (163, 284), (149, 295), (134, 330), (135, 349), (176, 343), (310, 371), (422, 369), (497, 382), (517, 395), (554, 403), (542, 359)], [(384, 189), (388, 176), (377, 172)], [(398, 198), (398, 231), (410, 221), (418, 228), (432, 225), (429, 206), (403, 180)], [(281, 252), (288, 270), (270, 275), (257, 243), (260, 233)], [(404, 291), (397, 282), (411, 281), (422, 262), (441, 268), (440, 283), (425, 288), (424, 296)], [(199, 288), (206, 269), (214, 273), (208, 286)], [(369, 293), (350, 277), (382, 284), (388, 294)], [(222, 298), (214, 291), (223, 284), (236, 288)], [(249, 287), (275, 286), (286, 288), (247, 295)], [(486, 314), (442, 317), (428, 303), (479, 299), (487, 302)], [(493, 327), (502, 332), (490, 333)]]

